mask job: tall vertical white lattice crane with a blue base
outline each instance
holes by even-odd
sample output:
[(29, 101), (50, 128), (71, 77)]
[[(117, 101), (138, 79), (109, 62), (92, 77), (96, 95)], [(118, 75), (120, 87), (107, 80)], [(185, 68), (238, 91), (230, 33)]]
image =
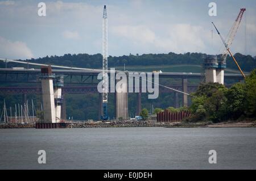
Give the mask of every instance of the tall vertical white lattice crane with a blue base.
[(103, 60), (102, 60), (102, 120), (108, 120), (108, 18), (106, 5), (103, 11)]

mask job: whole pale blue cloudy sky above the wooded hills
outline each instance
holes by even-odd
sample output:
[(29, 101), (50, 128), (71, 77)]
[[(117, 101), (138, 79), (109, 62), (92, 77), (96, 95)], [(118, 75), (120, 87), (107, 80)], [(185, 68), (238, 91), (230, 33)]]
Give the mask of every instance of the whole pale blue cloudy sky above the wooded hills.
[[(46, 16), (38, 3), (46, 3)], [(217, 15), (209, 16), (210, 2)], [(233, 53), (256, 55), (256, 1), (1, 1), (0, 58), (26, 59), (65, 53), (102, 54), (102, 13), (108, 13), (108, 54), (220, 54), (240, 8), (246, 8)], [(213, 30), (213, 36), (211, 31)]]

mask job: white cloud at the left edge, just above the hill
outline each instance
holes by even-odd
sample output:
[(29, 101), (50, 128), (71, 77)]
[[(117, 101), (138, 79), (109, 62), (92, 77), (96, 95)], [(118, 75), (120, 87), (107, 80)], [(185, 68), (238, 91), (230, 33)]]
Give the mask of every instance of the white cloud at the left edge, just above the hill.
[(25, 59), (32, 58), (33, 54), (27, 47), (26, 43), (22, 41), (10, 41), (0, 36), (0, 57)]

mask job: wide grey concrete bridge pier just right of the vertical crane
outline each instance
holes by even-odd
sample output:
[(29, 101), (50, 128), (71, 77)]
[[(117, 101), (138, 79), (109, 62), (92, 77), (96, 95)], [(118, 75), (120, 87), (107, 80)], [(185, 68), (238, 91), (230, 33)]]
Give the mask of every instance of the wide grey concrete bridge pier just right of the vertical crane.
[[(122, 81), (121, 87), (116, 87), (115, 92), (115, 106), (116, 106), (116, 119), (128, 119), (128, 92), (127, 92), (127, 79), (126, 82)], [(126, 90), (126, 91), (123, 91)]]

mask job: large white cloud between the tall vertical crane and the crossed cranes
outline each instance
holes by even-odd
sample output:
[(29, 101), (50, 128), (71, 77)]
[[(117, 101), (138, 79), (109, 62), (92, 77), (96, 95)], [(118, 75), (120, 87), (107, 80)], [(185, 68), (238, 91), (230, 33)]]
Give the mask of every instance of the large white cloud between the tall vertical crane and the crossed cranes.
[[(125, 37), (131, 44), (158, 52), (183, 53), (187, 51), (201, 52), (206, 48), (207, 33), (200, 26), (190, 24), (174, 24), (156, 34), (147, 26), (115, 26), (111, 28), (114, 35)], [(145, 46), (146, 45), (146, 46)]]

